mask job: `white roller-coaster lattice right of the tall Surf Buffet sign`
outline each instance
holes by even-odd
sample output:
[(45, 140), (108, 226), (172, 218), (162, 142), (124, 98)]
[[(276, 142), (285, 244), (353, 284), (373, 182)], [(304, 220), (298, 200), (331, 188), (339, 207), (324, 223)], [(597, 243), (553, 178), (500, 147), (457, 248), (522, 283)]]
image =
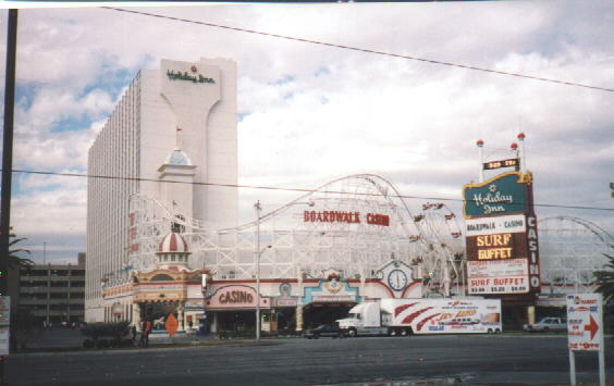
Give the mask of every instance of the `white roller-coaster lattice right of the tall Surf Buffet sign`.
[(538, 223), (542, 283), (552, 294), (592, 291), (593, 272), (607, 263), (614, 238), (595, 223), (573, 216), (545, 217)]

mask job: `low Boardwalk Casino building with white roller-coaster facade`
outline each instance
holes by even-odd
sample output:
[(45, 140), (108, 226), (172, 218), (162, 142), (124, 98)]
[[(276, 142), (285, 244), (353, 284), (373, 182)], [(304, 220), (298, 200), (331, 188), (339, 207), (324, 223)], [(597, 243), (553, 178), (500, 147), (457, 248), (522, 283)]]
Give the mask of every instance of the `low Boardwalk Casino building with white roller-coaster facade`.
[(128, 209), (128, 269), (102, 287), (106, 320), (161, 325), (173, 312), (180, 332), (253, 331), (259, 306), (263, 331), (302, 331), (363, 301), (462, 295), (461, 233), (445, 233), (454, 213), (438, 203), (413, 215), (376, 175), (340, 178), (226, 228), (142, 195)]

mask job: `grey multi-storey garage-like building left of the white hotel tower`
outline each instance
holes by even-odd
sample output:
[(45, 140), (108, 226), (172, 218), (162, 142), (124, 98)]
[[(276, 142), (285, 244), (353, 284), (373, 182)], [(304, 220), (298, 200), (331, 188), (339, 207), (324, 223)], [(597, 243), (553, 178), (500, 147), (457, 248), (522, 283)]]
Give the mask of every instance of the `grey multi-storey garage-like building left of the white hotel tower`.
[(73, 325), (85, 314), (85, 253), (74, 264), (35, 264), (20, 270), (17, 309), (39, 325)]

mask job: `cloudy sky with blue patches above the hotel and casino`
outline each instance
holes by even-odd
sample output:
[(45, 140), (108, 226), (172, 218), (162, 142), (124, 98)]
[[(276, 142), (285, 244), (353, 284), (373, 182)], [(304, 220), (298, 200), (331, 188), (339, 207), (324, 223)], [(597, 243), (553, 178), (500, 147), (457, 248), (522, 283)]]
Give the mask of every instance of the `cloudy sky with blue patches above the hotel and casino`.
[[(614, 89), (611, 1), (134, 9)], [(15, 170), (86, 173), (88, 148), (139, 69), (230, 58), (238, 65), (242, 185), (309, 189), (374, 173), (403, 195), (449, 198), (458, 210), (463, 185), (478, 179), (476, 141), (487, 160), (505, 159), (523, 132), (536, 202), (548, 206), (538, 216), (582, 217), (614, 234), (612, 91), (100, 8), (24, 9), (19, 17)], [(250, 220), (256, 200), (267, 211), (296, 196), (241, 189), (241, 219)], [(13, 174), (11, 224), (37, 262), (44, 250), (47, 262), (85, 251), (86, 204), (85, 178)]]

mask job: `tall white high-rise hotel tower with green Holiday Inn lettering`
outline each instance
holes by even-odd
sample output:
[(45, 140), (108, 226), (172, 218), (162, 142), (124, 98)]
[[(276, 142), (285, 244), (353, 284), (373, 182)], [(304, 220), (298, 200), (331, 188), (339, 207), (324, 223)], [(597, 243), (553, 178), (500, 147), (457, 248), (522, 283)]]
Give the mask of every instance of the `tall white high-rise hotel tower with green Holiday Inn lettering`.
[(130, 85), (88, 154), (86, 321), (105, 319), (101, 283), (128, 263), (131, 195), (236, 225), (236, 189), (216, 186), (237, 183), (236, 111), (230, 60), (162, 60)]

